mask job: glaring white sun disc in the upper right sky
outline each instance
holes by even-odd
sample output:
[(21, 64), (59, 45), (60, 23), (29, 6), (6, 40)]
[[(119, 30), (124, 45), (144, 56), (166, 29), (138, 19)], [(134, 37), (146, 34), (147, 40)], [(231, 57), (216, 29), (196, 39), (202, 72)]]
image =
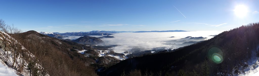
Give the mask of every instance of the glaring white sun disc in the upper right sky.
[(243, 18), (246, 16), (248, 9), (245, 5), (237, 5), (234, 9), (235, 15), (239, 18)]

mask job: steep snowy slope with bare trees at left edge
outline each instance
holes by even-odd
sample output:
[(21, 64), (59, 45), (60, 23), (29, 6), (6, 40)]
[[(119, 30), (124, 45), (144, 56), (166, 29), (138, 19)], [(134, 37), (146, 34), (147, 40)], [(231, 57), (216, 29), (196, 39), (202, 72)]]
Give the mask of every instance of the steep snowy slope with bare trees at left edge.
[[(2, 31), (0, 31), (0, 44), (0, 76), (30, 76), (30, 71), (26, 70), (28, 62), (25, 58), (28, 60), (35, 56), (16, 39)], [(38, 63), (35, 65), (41, 67)]]

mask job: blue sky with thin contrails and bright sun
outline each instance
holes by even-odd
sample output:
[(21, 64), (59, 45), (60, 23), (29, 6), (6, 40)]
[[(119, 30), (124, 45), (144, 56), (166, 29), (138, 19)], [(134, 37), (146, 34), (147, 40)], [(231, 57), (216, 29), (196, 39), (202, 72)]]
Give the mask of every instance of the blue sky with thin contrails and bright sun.
[(259, 21), (259, 0), (3, 0), (0, 19), (23, 32), (211, 31)]

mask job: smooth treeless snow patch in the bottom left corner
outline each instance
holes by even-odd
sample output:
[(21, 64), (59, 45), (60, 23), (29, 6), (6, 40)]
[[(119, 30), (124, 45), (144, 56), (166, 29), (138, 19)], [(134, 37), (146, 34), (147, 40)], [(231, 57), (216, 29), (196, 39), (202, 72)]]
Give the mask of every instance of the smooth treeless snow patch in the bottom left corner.
[(0, 76), (19, 76), (14, 69), (10, 69), (2, 60), (0, 60)]

